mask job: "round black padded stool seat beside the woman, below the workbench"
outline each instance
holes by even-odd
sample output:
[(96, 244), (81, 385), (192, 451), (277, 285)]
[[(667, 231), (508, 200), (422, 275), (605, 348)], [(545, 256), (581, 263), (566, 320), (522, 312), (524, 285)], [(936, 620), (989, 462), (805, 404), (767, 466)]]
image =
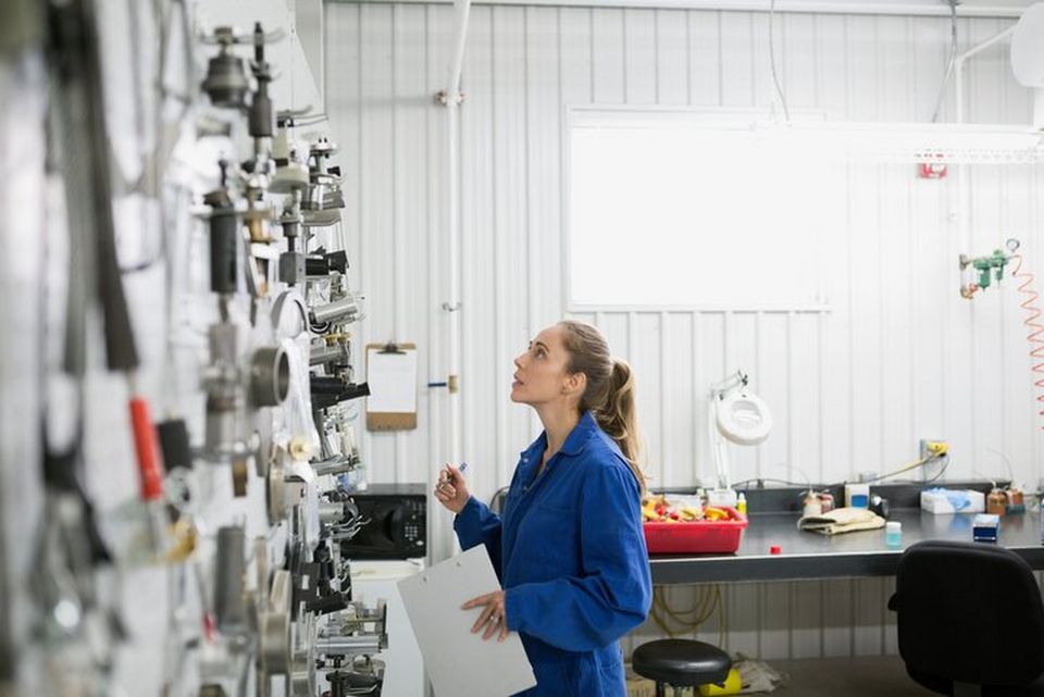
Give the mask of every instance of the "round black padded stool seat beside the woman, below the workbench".
[(732, 659), (717, 646), (691, 639), (659, 639), (643, 644), (631, 657), (634, 672), (656, 681), (656, 697), (667, 697), (667, 685), (681, 697), (682, 687), (724, 684)]

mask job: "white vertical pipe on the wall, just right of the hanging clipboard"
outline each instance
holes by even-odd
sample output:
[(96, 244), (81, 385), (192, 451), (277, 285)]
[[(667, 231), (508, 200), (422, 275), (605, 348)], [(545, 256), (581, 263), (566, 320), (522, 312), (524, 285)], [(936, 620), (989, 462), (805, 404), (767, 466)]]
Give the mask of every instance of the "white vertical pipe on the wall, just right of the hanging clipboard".
[(460, 73), (468, 38), (471, 0), (453, 2), (453, 52), (445, 91), (446, 105), (446, 235), (449, 251), (449, 298), (444, 306), (449, 314), (449, 461), (460, 464), (460, 179), (458, 173), (458, 123), (460, 114)]

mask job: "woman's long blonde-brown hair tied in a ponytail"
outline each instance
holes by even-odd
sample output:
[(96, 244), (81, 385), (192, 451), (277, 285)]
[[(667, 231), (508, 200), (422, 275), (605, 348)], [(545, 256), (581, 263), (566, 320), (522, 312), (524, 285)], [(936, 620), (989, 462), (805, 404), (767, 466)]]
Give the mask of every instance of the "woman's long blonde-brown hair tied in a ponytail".
[(644, 496), (645, 474), (638, 463), (641, 439), (631, 366), (609, 356), (609, 343), (597, 327), (574, 320), (564, 320), (558, 326), (563, 329), (563, 344), (569, 353), (566, 370), (587, 376), (587, 387), (580, 398), (581, 411), (593, 411), (601, 430), (620, 446)]

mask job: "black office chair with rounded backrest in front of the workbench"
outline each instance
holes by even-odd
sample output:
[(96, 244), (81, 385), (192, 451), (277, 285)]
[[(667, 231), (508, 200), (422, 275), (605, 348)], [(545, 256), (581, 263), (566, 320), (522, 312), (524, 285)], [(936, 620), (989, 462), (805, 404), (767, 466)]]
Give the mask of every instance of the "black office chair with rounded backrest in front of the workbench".
[(888, 609), (910, 677), (953, 697), (1044, 696), (1044, 606), (1030, 565), (977, 543), (923, 542), (899, 560)]

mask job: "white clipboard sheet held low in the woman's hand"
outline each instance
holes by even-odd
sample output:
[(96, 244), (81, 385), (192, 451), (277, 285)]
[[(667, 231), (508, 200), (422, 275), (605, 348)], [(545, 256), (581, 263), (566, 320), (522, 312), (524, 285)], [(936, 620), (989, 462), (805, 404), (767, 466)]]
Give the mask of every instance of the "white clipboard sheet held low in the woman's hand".
[(436, 697), (507, 697), (536, 685), (522, 639), (471, 633), (481, 608), (468, 600), (500, 588), (485, 545), (399, 582), (399, 594)]

